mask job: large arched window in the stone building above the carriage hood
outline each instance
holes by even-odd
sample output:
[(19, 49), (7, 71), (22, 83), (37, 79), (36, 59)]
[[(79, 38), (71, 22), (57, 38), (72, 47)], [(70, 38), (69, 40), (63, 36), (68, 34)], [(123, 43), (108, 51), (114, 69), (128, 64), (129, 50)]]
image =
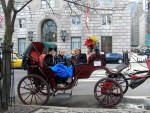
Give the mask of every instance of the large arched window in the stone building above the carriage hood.
[(56, 42), (57, 41), (57, 26), (53, 20), (46, 20), (42, 25), (42, 41)]

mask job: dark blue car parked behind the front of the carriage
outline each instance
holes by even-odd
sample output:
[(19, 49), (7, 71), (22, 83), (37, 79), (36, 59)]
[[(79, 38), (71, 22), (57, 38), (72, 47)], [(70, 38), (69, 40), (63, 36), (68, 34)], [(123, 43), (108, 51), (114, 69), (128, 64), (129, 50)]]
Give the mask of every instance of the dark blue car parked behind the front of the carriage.
[(123, 55), (120, 53), (106, 53), (106, 63), (123, 63)]

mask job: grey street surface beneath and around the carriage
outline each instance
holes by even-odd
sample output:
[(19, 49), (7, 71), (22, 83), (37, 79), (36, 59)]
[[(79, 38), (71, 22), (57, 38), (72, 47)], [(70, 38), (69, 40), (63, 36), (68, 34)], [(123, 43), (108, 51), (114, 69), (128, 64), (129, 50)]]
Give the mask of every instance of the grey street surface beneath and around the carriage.
[[(107, 67), (109, 68), (115, 68), (117, 64), (109, 64)], [(141, 66), (142, 65), (142, 66)], [(146, 64), (141, 63), (141, 65), (138, 65), (136, 63), (131, 64), (131, 70), (134, 69), (138, 70), (147, 70), (145, 67)], [(17, 84), (20, 81), (20, 79), (25, 76), (27, 73), (24, 70), (15, 70), (15, 95), (17, 103), (21, 103), (20, 100), (17, 97)], [(97, 104), (97, 101), (94, 97), (94, 85), (95, 83), (105, 77), (105, 71), (103, 70), (97, 70), (92, 73), (91, 77), (89, 79), (82, 79), (78, 81), (77, 86), (73, 88), (72, 96), (69, 95), (56, 95), (55, 97), (51, 97), (49, 99), (49, 102), (47, 105), (54, 105), (54, 106), (72, 106), (72, 107), (99, 107)], [(127, 93), (124, 95), (123, 104), (126, 103), (129, 100), (126, 100), (126, 96), (130, 96), (131, 100), (132, 97), (145, 97), (150, 96), (150, 80), (148, 79), (145, 81), (142, 85), (137, 87), (136, 89), (132, 90), (131, 88), (128, 89)], [(139, 103), (143, 103), (142, 101), (139, 101)], [(80, 103), (80, 104), (79, 104)], [(146, 102), (148, 105), (150, 105), (149, 102)], [(122, 104), (119, 104), (121, 106)], [(118, 107), (117, 107), (118, 108)]]

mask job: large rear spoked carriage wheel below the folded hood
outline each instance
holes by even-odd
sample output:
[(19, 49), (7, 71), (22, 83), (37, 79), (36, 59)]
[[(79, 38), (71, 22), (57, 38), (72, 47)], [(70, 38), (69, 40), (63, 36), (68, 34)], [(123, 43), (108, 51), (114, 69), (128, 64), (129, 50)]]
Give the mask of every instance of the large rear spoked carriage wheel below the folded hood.
[(44, 105), (49, 99), (47, 82), (38, 75), (29, 75), (21, 79), (17, 88), (20, 100), (26, 105)]

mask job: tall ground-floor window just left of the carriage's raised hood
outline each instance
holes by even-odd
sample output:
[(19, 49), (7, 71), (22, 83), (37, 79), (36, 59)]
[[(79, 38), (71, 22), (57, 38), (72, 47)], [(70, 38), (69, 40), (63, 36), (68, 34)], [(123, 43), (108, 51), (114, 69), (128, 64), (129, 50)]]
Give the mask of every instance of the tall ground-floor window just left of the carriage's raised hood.
[(23, 54), (25, 51), (26, 39), (18, 38), (18, 53)]

